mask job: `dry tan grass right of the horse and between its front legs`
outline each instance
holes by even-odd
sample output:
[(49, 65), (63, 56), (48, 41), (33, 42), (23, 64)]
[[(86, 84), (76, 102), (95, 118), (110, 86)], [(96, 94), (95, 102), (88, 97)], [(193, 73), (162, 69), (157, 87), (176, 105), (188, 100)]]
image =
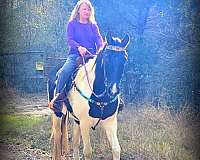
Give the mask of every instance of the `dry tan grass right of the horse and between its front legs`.
[[(198, 160), (200, 124), (198, 115), (189, 110), (172, 114), (168, 109), (140, 106), (138, 110), (126, 108), (118, 117), (118, 137), (122, 159)], [(108, 153), (105, 133), (92, 134), (95, 152)], [(111, 152), (111, 151), (110, 151)], [(100, 158), (95, 154), (95, 159)]]

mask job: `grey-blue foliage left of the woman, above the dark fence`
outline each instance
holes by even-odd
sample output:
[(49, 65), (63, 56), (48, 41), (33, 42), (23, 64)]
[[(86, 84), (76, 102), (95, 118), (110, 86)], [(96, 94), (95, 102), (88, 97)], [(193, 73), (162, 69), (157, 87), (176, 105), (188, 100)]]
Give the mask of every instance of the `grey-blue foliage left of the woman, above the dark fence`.
[(66, 3), (17, 1), (1, 10), (4, 29), (1, 52), (66, 51)]

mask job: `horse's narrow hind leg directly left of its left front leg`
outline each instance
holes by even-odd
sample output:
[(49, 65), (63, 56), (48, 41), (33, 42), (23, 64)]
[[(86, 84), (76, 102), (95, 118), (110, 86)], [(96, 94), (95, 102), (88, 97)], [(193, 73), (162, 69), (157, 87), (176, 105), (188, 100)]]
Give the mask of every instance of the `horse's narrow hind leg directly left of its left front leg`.
[(80, 160), (80, 155), (79, 155), (79, 147), (80, 147), (80, 126), (74, 122), (73, 125), (73, 158), (74, 160)]

